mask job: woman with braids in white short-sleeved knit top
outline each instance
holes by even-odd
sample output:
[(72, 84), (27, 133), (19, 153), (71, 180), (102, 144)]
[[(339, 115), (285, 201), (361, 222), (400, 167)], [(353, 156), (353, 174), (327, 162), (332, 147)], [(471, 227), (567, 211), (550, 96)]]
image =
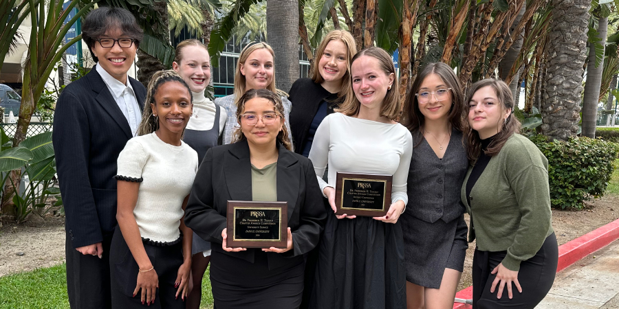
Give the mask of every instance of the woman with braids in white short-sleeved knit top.
[(191, 229), (183, 222), (197, 153), (181, 137), (191, 91), (175, 71), (153, 75), (138, 137), (118, 156), (118, 227), (111, 242), (112, 308), (185, 308)]

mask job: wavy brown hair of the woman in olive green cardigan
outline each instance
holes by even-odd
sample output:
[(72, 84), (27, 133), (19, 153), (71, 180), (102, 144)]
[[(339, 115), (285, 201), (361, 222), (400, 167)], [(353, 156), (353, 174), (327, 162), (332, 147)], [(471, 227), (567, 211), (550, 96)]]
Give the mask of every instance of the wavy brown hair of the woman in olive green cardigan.
[[(503, 148), (506, 141), (514, 135), (514, 133), (520, 132), (520, 121), (516, 116), (514, 116), (514, 98), (512, 97), (512, 91), (510, 90), (508, 84), (503, 82), (503, 80), (486, 78), (485, 80), (475, 82), (475, 84), (470, 86), (466, 93), (466, 104), (470, 102), (473, 95), (475, 95), (475, 92), (488, 86), (492, 87), (492, 89), (495, 90), (495, 93), (497, 93), (501, 113), (505, 113), (507, 110), (512, 111), (506, 121), (503, 122), (501, 131), (499, 131), (499, 133), (495, 135), (495, 138), (492, 139), (492, 142), (488, 145), (488, 149), (484, 150), (484, 153), (488, 157), (492, 157), (501, 151), (501, 148)], [(479, 155), (481, 155), (481, 138), (479, 138), (479, 133), (477, 133), (476, 130), (470, 128), (470, 125), (466, 126), (465, 136), (468, 141), (468, 159), (473, 162), (479, 158)]]

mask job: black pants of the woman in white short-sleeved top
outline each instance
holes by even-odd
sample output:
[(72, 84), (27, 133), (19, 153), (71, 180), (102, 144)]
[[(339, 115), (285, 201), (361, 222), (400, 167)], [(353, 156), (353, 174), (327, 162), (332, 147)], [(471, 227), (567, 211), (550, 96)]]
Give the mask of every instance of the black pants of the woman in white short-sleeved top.
[[(183, 264), (182, 242), (170, 246), (155, 245), (144, 242), (144, 250), (159, 277), (159, 288), (155, 292), (155, 301), (148, 308), (184, 309), (181, 296), (176, 299), (177, 288), (174, 287), (178, 268)], [(112, 308), (146, 308), (142, 305), (141, 291), (133, 297), (133, 290), (138, 282), (139, 266), (135, 262), (127, 242), (124, 241), (120, 228), (116, 227), (111, 242), (111, 302)], [(145, 304), (145, 303), (144, 303)]]

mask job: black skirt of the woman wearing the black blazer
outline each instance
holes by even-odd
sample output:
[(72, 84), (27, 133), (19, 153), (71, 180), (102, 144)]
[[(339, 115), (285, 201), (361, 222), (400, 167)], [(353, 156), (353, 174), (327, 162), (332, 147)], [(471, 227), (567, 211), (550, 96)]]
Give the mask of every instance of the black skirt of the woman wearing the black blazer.
[(269, 269), (268, 254), (255, 251), (254, 263), (219, 251), (210, 255), (210, 283), (217, 309), (295, 309), (303, 295), (303, 259)]

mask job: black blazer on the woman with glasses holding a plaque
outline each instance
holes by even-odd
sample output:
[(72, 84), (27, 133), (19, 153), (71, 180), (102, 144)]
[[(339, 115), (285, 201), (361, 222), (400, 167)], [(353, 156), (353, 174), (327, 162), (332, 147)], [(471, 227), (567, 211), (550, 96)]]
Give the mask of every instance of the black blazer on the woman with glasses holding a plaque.
[[(303, 262), (314, 249), (327, 220), (323, 195), (310, 159), (279, 147), (277, 201), (288, 202), (288, 227), (294, 249), (268, 253), (269, 268)], [(227, 202), (252, 201), (252, 172), (246, 140), (210, 148), (195, 176), (185, 210), (185, 224), (213, 243), (213, 251), (254, 262), (254, 250), (226, 252), (221, 231), (226, 228)]]

